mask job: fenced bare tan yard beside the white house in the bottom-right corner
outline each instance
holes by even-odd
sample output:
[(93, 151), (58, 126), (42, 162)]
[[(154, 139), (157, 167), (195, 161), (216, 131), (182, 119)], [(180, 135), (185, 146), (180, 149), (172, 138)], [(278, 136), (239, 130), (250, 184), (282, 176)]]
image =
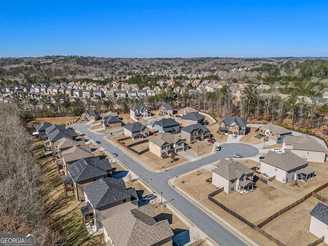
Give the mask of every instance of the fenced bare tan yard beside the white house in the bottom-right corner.
[[(298, 206), (275, 218), (263, 230), (287, 245), (305, 246), (318, 238), (309, 232), (310, 211), (320, 200), (310, 197)], [(327, 245), (320, 243), (319, 245)]]

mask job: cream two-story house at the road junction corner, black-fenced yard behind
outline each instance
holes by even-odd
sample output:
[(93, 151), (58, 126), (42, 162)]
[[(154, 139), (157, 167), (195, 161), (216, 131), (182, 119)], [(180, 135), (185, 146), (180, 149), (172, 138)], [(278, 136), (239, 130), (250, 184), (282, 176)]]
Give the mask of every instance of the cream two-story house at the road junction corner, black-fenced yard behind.
[(254, 172), (238, 161), (221, 159), (212, 170), (212, 183), (216, 187), (223, 187), (223, 191), (230, 194), (243, 194), (254, 188)]

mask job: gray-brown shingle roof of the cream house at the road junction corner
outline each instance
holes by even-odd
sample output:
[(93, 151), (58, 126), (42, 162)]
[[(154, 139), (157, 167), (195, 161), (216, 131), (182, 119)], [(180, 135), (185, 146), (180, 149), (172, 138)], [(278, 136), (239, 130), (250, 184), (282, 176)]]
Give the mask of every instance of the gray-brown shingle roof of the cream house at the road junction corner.
[(221, 159), (217, 163), (217, 168), (212, 171), (227, 180), (239, 179), (243, 174), (248, 175), (253, 173), (252, 169), (242, 165), (240, 162), (231, 162), (226, 159)]

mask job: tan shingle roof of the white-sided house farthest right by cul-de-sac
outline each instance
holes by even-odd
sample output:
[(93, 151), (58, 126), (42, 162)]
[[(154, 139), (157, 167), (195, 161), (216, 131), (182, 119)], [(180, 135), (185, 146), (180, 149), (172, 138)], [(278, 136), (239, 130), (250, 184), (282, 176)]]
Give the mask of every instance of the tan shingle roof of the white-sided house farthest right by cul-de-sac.
[(305, 134), (300, 136), (285, 136), (283, 141), (286, 145), (293, 145), (294, 150), (326, 152), (318, 141)]

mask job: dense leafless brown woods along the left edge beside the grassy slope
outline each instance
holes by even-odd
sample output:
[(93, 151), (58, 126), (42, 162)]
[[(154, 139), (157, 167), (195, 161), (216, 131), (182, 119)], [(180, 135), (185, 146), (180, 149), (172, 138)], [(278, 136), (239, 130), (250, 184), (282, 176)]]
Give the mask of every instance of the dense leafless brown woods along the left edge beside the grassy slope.
[(65, 245), (47, 222), (40, 168), (19, 110), (0, 109), (0, 232), (36, 233), (38, 245)]

